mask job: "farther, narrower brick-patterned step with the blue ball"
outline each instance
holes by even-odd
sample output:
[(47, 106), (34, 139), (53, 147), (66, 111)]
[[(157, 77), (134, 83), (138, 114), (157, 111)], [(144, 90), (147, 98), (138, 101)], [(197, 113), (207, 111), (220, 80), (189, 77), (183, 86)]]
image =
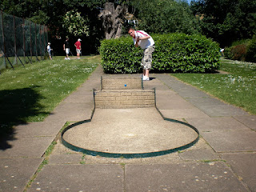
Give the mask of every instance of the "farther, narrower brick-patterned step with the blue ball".
[(102, 77), (102, 90), (138, 90), (143, 89), (142, 78), (136, 77)]

